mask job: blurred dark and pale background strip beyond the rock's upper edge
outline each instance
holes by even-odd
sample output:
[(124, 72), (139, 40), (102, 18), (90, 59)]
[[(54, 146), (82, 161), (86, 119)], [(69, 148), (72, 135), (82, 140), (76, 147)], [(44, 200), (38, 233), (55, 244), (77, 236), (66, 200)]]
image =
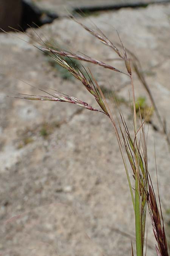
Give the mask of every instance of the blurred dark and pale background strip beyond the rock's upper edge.
[(5, 31), (11, 28), (25, 30), (28, 25), (41, 26), (51, 23), (58, 17), (70, 14), (90, 14), (96, 11), (118, 10), (121, 8), (145, 8), (152, 3), (166, 3), (168, 0), (1, 0), (0, 27)]

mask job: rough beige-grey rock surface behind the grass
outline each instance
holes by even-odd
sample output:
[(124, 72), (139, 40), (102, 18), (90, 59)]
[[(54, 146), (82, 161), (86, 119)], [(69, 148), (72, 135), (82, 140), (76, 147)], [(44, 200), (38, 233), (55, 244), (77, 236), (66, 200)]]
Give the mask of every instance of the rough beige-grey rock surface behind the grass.
[[(90, 18), (113, 42), (118, 42), (116, 28), (124, 45), (138, 55), (167, 127), (169, 17), (167, 4)], [(91, 25), (88, 18), (81, 21)], [(73, 20), (56, 20), (36, 31), (43, 39), (56, 39), (60, 45), (101, 60), (116, 56)], [(35, 37), (32, 30), (28, 35)], [(33, 42), (21, 33), (0, 35), (0, 252), (5, 256), (130, 255), (133, 207), (113, 128), (102, 113), (66, 103), (5, 97), (13, 92), (40, 94), (29, 83), (42, 90), (55, 88), (97, 107), (79, 82), (62, 80), (45, 55), (22, 39)], [(88, 66), (100, 85), (124, 86), (120, 95), (129, 100), (126, 77)], [(121, 68), (121, 63), (115, 66)], [(134, 84), (136, 96), (146, 95), (150, 104), (136, 77)], [(130, 108), (125, 104), (121, 108), (131, 123)], [(155, 116), (153, 123), (159, 128)], [(165, 212), (170, 201), (169, 153), (161, 131), (149, 126), (149, 170), (156, 185), (154, 138)], [(149, 217), (147, 252), (156, 255)]]

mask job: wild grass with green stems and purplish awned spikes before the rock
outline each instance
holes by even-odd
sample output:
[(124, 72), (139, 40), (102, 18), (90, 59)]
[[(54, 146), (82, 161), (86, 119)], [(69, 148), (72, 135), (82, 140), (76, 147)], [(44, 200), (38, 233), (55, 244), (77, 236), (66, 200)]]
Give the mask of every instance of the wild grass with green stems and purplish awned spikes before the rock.
[[(74, 18), (73, 18), (74, 19)], [(75, 19), (74, 19), (75, 20)], [(69, 52), (63, 49), (53, 49), (49, 47), (46, 42), (41, 39), (39, 48), (42, 52), (46, 53), (57, 65), (64, 68), (69, 74), (75, 77), (82, 83), (85, 89), (94, 97), (98, 104), (98, 108), (89, 105), (87, 102), (83, 102), (74, 96), (68, 96), (64, 93), (59, 93), (57, 90), (42, 91), (45, 95), (28, 95), (19, 93), (15, 97), (26, 99), (26, 100), (36, 100), (36, 101), (56, 101), (56, 102), (67, 102), (75, 104), (79, 107), (86, 108), (94, 112), (101, 112), (107, 116), (108, 121), (111, 122), (113, 129), (116, 134), (117, 143), (119, 144), (120, 154), (124, 163), (125, 172), (127, 175), (127, 181), (130, 189), (131, 201), (134, 209), (135, 218), (135, 230), (136, 230), (136, 256), (146, 255), (145, 253), (145, 243), (147, 244), (147, 239), (145, 238), (146, 233), (146, 212), (148, 212), (151, 217), (153, 233), (156, 239), (156, 253), (158, 256), (168, 256), (167, 240), (164, 230), (164, 221), (162, 217), (160, 198), (156, 198), (153, 184), (151, 181), (149, 169), (148, 169), (148, 155), (147, 155), (147, 135), (145, 132), (145, 123), (151, 113), (151, 108), (145, 113), (142, 109), (145, 105), (144, 99), (135, 98), (135, 90), (133, 83), (133, 69), (141, 80), (142, 84), (145, 86), (153, 107), (157, 113), (158, 119), (162, 124), (161, 117), (159, 115), (158, 109), (156, 107), (151, 91), (145, 81), (144, 75), (141, 71), (141, 66), (138, 59), (128, 51), (118, 35), (120, 44), (117, 47), (113, 44), (105, 35), (96, 28), (96, 31), (83, 25), (79, 20), (75, 20), (80, 26), (87, 30), (91, 35), (93, 35), (100, 42), (110, 47), (110, 50), (116, 52), (117, 57), (124, 61), (126, 72), (117, 69), (110, 64), (104, 63), (103, 61), (91, 58), (87, 55), (80, 55), (77, 53)], [(34, 30), (35, 33), (37, 33)], [(38, 35), (39, 37), (39, 35)], [(129, 56), (128, 56), (129, 55)], [(131, 58), (133, 56), (133, 59)], [(131, 83), (133, 108), (133, 133), (127, 126), (127, 121), (124, 118), (121, 107), (117, 104), (117, 101), (108, 102), (105, 93), (102, 91), (98, 85), (95, 77), (90, 70), (84, 70), (83, 72), (78, 65), (74, 65), (73, 61), (85, 61), (101, 66), (105, 69), (110, 69), (113, 72), (119, 72), (128, 77)], [(69, 61), (68, 61), (69, 60)], [(71, 60), (71, 62), (70, 62)], [(133, 69), (131, 68), (133, 66)], [(84, 74), (84, 71), (86, 75)], [(114, 94), (113, 94), (114, 95)], [(110, 95), (112, 97), (112, 95)], [(113, 98), (116, 96), (113, 96)], [(118, 125), (117, 125), (118, 123)], [(164, 133), (167, 134), (165, 128), (163, 127)], [(167, 141), (169, 141), (167, 137)], [(128, 168), (127, 161), (130, 163), (130, 169)], [(130, 176), (133, 176), (131, 181)], [(147, 245), (146, 245), (147, 246)], [(131, 244), (131, 255), (134, 255), (133, 245)]]

